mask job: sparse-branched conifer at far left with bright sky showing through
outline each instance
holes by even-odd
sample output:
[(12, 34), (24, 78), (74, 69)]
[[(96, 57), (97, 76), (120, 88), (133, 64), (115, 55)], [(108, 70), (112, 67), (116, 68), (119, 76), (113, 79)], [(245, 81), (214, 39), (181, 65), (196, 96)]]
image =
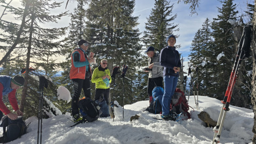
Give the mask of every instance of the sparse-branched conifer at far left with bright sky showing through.
[[(38, 93), (34, 93), (35, 95), (30, 93), (32, 90), (37, 89), (36, 85), (31, 84), (32, 81), (29, 75), (30, 65), (43, 69), (43, 73), (40, 73), (41, 75), (49, 76), (54, 74), (52, 73), (52, 69), (57, 69), (59, 67), (58, 63), (55, 63), (52, 57), (60, 54), (62, 48), (65, 49), (65, 45), (62, 45), (62, 42), (58, 39), (60, 36), (65, 35), (65, 30), (67, 28), (45, 28), (43, 24), (47, 22), (57, 22), (58, 19), (67, 14), (64, 12), (58, 15), (50, 15), (50, 13), (47, 12), (50, 11), (50, 9), (60, 6), (61, 3), (51, 3), (51, 1), (21, 1), (21, 7), (6, 7), (6, 10), (15, 15), (17, 19), (25, 18), (25, 23), (22, 23), (24, 26), (23, 29), (21, 29), (22, 32), (19, 44), (12, 52), (14, 55), (12, 61), (20, 58), (22, 64), (26, 65), (25, 85), (23, 86), (20, 98), (21, 111), (24, 109), (27, 110), (27, 95), (30, 95), (31, 97), (34, 96), (32, 100), (38, 101), (38, 99), (35, 99), (38, 96)], [(24, 17), (24, 13), (27, 13), (27, 17)], [(4, 37), (6, 39), (5, 43), (9, 44), (7, 42), (12, 41), (16, 38), (15, 36), (18, 36), (16, 32), (22, 26), (14, 22), (4, 21), (3, 19), (4, 17), (1, 20), (1, 29), (8, 29), (6, 30), (7, 34), (4, 35)], [(12, 49), (12, 47), (6, 46), (6, 50), (9, 49)], [(23, 53), (26, 53), (26, 55), (22, 55)], [(20, 54), (19, 57), (16, 57), (17, 54)], [(23, 66), (21, 68), (23, 68)], [(34, 104), (33, 101), (29, 102), (31, 102), (30, 105)], [(26, 110), (25, 113), (27, 112)]]

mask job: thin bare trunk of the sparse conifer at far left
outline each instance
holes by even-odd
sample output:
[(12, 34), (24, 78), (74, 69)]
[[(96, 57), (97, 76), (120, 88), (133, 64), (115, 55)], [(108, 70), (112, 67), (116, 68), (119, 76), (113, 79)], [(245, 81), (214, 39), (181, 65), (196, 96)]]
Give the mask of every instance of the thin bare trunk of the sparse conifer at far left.
[(34, 7), (32, 11), (32, 17), (31, 17), (31, 25), (29, 28), (29, 41), (28, 41), (28, 52), (27, 52), (27, 60), (26, 60), (26, 73), (25, 73), (25, 83), (22, 90), (21, 100), (20, 100), (20, 110), (24, 110), (24, 106), (26, 103), (26, 93), (28, 90), (28, 73), (29, 73), (29, 64), (30, 64), (30, 51), (31, 51), (31, 43), (32, 43), (32, 35), (33, 35), (33, 25), (34, 25)]

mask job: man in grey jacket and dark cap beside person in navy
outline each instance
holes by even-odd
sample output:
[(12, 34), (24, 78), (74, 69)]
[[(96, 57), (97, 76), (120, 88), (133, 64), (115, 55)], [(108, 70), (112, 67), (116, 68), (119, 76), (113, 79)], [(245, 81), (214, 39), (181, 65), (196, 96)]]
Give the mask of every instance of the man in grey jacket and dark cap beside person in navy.
[(147, 51), (148, 55), (148, 97), (149, 103), (152, 101), (152, 91), (156, 86), (163, 87), (163, 67), (159, 63), (160, 55), (155, 53), (155, 48), (149, 46)]

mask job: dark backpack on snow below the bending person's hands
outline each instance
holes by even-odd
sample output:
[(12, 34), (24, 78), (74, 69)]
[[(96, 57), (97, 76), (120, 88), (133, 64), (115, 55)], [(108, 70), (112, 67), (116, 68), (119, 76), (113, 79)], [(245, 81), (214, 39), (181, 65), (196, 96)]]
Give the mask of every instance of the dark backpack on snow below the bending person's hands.
[(27, 132), (27, 125), (22, 117), (12, 120), (7, 116), (2, 118), (0, 125), (3, 127), (3, 137), (0, 137), (0, 143), (10, 142), (21, 137)]

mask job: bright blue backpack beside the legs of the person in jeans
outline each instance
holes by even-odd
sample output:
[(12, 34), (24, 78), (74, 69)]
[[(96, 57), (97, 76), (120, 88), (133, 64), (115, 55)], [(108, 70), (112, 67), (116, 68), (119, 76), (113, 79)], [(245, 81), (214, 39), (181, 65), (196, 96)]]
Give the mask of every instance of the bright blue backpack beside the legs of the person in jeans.
[(162, 112), (162, 99), (164, 95), (164, 89), (161, 86), (156, 86), (152, 91), (152, 101), (147, 107), (147, 111), (153, 114), (160, 114)]

